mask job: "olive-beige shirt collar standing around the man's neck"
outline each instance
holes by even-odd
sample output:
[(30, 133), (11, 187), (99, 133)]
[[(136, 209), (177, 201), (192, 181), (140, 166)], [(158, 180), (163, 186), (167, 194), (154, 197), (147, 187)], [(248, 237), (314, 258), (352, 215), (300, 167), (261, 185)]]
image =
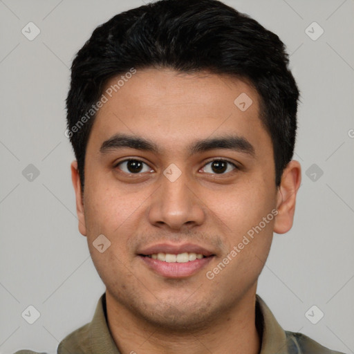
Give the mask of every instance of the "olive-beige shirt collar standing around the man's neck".
[[(259, 354), (288, 354), (286, 333), (259, 295), (256, 295), (256, 321), (260, 329), (261, 351)], [(88, 324), (91, 353), (120, 354), (106, 319), (106, 293), (100, 297), (92, 322)]]

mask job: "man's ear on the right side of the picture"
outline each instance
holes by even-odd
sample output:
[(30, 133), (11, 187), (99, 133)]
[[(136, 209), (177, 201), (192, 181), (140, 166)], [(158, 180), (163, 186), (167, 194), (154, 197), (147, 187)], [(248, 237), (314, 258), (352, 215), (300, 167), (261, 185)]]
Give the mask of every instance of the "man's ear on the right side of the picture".
[(277, 232), (277, 234), (285, 234), (292, 227), (296, 196), (300, 183), (301, 166), (299, 162), (292, 160), (283, 171), (277, 192), (278, 214), (274, 222), (274, 232)]

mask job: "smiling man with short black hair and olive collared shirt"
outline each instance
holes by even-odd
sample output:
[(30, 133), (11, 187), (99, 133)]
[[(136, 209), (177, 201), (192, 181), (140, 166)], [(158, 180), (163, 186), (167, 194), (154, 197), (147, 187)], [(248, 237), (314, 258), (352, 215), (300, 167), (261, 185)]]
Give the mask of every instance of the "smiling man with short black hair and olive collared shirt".
[(279, 37), (216, 0), (93, 32), (66, 135), (106, 292), (57, 353), (338, 353), (283, 330), (256, 293), (273, 232), (292, 227), (298, 100)]

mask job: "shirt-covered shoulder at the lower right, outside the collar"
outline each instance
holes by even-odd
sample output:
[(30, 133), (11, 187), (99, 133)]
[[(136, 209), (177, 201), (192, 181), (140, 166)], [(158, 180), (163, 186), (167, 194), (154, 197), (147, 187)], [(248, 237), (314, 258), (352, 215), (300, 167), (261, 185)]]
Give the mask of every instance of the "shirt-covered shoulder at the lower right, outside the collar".
[(331, 351), (302, 333), (285, 331), (289, 354), (344, 354)]

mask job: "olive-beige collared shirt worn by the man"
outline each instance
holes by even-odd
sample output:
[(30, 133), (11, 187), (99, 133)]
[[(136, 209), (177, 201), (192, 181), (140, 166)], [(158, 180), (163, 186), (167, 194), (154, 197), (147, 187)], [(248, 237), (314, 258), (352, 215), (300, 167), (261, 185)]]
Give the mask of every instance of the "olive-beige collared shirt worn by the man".
[[(301, 333), (283, 330), (259, 295), (256, 295), (256, 322), (262, 337), (259, 354), (344, 354), (331, 351)], [(15, 354), (34, 353), (17, 351)], [(98, 301), (92, 321), (66, 336), (57, 348), (57, 354), (84, 353), (120, 354), (106, 322), (105, 293)]]

